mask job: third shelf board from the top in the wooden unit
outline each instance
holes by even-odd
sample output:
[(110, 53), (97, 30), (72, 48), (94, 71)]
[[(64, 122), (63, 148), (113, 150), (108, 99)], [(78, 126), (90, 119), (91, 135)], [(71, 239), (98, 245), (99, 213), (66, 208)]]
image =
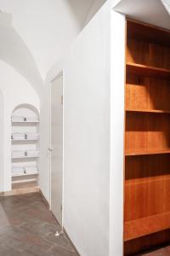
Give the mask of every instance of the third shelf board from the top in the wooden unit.
[(133, 156), (133, 155), (144, 155), (144, 154), (170, 154), (170, 148), (154, 150), (154, 149), (146, 149), (146, 150), (131, 150), (125, 152), (126, 156)]

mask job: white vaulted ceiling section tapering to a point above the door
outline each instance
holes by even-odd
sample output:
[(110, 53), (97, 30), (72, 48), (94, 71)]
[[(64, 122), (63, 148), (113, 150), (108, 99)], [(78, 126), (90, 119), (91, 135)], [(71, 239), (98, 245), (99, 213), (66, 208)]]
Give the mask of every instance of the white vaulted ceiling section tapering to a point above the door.
[[(99, 0), (97, 0), (99, 1)], [(94, 0), (0, 0), (45, 76), (77, 37)]]

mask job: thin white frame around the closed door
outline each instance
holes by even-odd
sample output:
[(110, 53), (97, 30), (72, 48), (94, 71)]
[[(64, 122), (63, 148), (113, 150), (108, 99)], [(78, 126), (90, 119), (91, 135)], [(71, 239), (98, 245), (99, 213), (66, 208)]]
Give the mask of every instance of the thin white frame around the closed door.
[[(51, 88), (52, 83), (55, 79), (59, 79), (60, 77), (63, 77), (63, 98), (65, 95), (64, 91), (64, 84), (65, 84), (65, 71), (62, 69), (57, 75), (54, 76), (53, 79), (50, 79), (49, 84), (49, 148), (52, 148), (52, 113), (51, 113)], [(64, 116), (65, 116), (65, 108), (64, 108), (64, 101), (63, 101), (63, 170), (62, 170), (62, 225), (61, 228), (63, 229), (63, 221), (64, 221)], [(51, 210), (51, 175), (52, 175), (52, 166), (51, 166), (51, 152), (49, 152), (49, 209)]]

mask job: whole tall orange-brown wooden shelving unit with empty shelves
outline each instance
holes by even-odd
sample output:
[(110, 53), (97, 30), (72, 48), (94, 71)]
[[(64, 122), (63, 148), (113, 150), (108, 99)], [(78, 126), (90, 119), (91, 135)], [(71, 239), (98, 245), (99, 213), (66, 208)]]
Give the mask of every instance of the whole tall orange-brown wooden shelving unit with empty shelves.
[(170, 230), (170, 32), (127, 20), (125, 87), (124, 255), (134, 255)]

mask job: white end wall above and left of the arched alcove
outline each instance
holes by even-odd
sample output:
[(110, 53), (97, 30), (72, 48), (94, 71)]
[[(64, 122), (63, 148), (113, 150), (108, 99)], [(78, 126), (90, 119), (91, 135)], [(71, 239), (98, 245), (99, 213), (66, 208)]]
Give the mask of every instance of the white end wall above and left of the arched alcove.
[[(13, 109), (22, 103), (32, 104), (38, 110), (40, 109), (39, 97), (37, 92), (30, 84), (20, 76), (20, 73), (14, 71), (5, 62), (0, 61), (0, 90), (3, 92), (3, 190), (11, 189), (11, 113)], [(2, 172), (2, 170), (1, 170)]]

